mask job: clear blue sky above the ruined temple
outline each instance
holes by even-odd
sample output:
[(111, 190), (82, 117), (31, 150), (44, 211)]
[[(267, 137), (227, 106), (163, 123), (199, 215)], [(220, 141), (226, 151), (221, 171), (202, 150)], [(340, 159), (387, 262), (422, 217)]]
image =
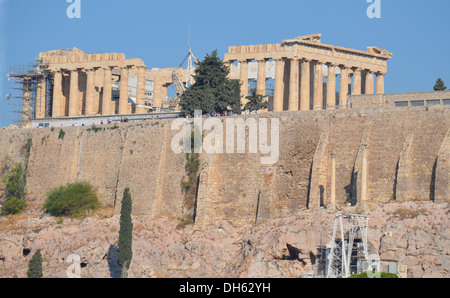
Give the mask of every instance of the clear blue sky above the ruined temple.
[[(10, 64), (33, 62), (39, 52), (77, 47), (123, 52), (149, 68), (176, 67), (191, 45), (201, 59), (228, 46), (280, 43), (322, 33), (322, 42), (394, 54), (386, 92), (431, 91), (438, 77), (450, 87), (450, 1), (380, 0), (370, 19), (368, 0), (80, 0), (81, 19), (66, 15), (66, 0), (0, 0), (0, 126), (8, 113)], [(374, 0), (375, 1), (375, 0)]]

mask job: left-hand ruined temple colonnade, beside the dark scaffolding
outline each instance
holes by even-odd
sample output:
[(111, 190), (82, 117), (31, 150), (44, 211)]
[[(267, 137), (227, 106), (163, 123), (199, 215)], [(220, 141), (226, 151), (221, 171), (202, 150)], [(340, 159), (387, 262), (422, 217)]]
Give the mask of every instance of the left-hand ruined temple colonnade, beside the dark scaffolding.
[(74, 48), (43, 52), (38, 60), (45, 75), (38, 81), (36, 119), (145, 114), (169, 101), (168, 86), (188, 79), (185, 69), (147, 70), (143, 60), (123, 53)]

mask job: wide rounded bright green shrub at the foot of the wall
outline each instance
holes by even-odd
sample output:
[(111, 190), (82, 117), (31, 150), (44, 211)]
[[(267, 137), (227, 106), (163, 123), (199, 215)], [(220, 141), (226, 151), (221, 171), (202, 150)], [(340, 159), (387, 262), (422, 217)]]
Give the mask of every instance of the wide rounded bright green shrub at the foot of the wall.
[(84, 217), (99, 206), (93, 186), (89, 182), (76, 182), (51, 189), (44, 209), (52, 216)]

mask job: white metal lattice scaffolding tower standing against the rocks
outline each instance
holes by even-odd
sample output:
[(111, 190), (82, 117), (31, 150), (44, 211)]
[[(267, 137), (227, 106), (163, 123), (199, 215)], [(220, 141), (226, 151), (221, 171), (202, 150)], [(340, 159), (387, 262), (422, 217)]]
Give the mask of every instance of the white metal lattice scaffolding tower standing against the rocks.
[[(333, 239), (328, 255), (327, 277), (345, 278), (357, 273), (360, 260), (368, 259), (369, 217), (338, 214), (334, 219)], [(346, 220), (346, 225), (344, 225)]]

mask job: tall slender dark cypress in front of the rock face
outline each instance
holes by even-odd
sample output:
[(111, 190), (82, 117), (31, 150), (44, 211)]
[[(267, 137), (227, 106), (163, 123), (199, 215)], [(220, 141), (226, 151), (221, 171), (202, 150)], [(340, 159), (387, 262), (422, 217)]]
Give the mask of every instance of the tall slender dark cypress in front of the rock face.
[[(132, 202), (130, 189), (123, 191), (122, 209), (120, 210), (120, 231), (119, 231), (119, 247), (118, 247), (118, 263), (122, 270), (130, 268), (131, 259), (133, 257), (132, 236), (133, 222), (131, 220)], [(122, 276), (124, 276), (122, 272)]]

